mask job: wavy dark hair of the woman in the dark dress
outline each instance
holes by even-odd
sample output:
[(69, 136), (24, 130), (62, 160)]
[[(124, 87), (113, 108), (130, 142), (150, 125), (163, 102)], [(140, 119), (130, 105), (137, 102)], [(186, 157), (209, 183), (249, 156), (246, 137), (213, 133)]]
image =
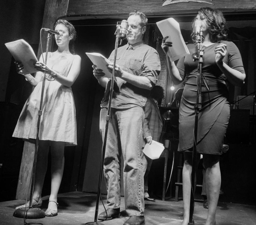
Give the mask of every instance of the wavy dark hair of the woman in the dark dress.
[[(198, 10), (198, 14), (206, 19), (206, 24), (211, 34), (211, 41), (220, 42), (221, 40), (227, 39), (228, 29), (226, 27), (226, 19), (221, 11), (210, 7), (202, 7)], [(196, 17), (192, 21), (193, 30), (195, 27), (195, 19)]]

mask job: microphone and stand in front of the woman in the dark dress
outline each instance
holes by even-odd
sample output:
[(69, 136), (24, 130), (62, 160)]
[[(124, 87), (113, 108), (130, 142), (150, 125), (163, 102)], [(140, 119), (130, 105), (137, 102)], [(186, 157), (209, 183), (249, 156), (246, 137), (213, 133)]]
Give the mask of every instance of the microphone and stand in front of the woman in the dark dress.
[(191, 193), (190, 193), (190, 205), (189, 205), (189, 223), (188, 225), (194, 225), (193, 220), (194, 206), (195, 206), (195, 172), (197, 164), (197, 129), (198, 129), (198, 114), (202, 108), (202, 64), (204, 55), (203, 31), (200, 28), (199, 40), (197, 40), (198, 56), (194, 56), (194, 61), (198, 60), (198, 74), (197, 74), (197, 103), (195, 104), (195, 126), (194, 126), (194, 146), (192, 156), (192, 172), (191, 172)]

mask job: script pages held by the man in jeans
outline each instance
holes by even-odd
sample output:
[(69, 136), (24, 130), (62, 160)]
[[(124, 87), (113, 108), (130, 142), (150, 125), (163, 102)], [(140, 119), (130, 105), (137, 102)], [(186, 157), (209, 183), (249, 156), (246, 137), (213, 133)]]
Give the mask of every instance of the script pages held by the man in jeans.
[(107, 66), (110, 61), (106, 57), (104, 57), (100, 53), (95, 53), (95, 52), (91, 52), (91, 53), (85, 52), (85, 54), (89, 57), (89, 59), (91, 59), (93, 64), (97, 66), (97, 69), (101, 69), (102, 72), (105, 73), (105, 77), (108, 77), (111, 79), (112, 74), (107, 69)]

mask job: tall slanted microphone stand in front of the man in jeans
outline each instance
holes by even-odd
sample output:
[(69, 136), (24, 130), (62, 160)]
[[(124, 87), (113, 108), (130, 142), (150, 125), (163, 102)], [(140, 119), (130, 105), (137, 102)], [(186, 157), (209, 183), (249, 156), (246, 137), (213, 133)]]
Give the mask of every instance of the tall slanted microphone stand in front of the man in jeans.
[[(118, 48), (118, 44), (119, 44), (120, 31), (121, 31), (121, 26), (117, 22), (117, 30), (115, 31), (116, 39), (115, 39), (114, 63), (113, 63), (111, 84), (110, 84), (110, 90), (109, 90), (108, 111), (107, 111), (107, 115), (106, 115), (104, 140), (103, 140), (103, 144), (102, 144), (100, 175), (99, 175), (99, 181), (98, 181), (98, 192), (97, 192), (97, 198), (96, 198), (94, 222), (85, 223), (85, 225), (95, 225), (95, 224), (104, 225), (101, 221), (100, 222), (97, 221), (98, 220), (98, 206), (99, 206), (100, 195), (101, 195), (100, 189), (101, 189), (101, 184), (102, 184), (102, 174), (103, 174), (104, 158), (105, 158), (106, 143), (107, 143), (107, 136), (108, 136), (108, 124), (109, 124), (109, 120), (110, 120), (111, 101), (112, 101), (113, 87), (114, 87), (115, 63), (116, 63), (116, 58), (117, 58), (117, 48)], [(122, 42), (122, 40), (121, 40), (121, 42)], [(120, 42), (120, 44), (121, 44), (121, 42)]]

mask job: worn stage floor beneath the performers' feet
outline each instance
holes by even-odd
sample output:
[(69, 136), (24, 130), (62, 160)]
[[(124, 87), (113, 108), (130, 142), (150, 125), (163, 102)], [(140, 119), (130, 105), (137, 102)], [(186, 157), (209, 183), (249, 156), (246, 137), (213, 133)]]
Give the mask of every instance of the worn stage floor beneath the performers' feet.
[[(106, 205), (106, 195), (102, 195)], [(0, 225), (22, 225), (22, 218), (13, 217), (15, 207), (24, 200), (0, 202)], [(58, 216), (42, 219), (27, 219), (27, 223), (41, 223), (44, 225), (84, 225), (93, 222), (95, 216), (96, 194), (83, 192), (69, 192), (58, 195)], [(42, 209), (46, 210), (48, 196), (43, 197)], [(100, 202), (99, 213), (104, 210)], [(104, 221), (104, 225), (122, 225), (128, 219), (124, 211), (124, 197), (121, 198), (121, 214), (117, 219)], [(178, 225), (182, 221), (183, 201), (145, 201), (146, 225)], [(194, 220), (196, 225), (203, 225), (206, 220), (207, 209), (201, 202), (195, 202)], [(217, 225), (256, 225), (256, 206), (219, 202), (217, 208)]]

